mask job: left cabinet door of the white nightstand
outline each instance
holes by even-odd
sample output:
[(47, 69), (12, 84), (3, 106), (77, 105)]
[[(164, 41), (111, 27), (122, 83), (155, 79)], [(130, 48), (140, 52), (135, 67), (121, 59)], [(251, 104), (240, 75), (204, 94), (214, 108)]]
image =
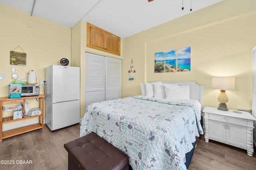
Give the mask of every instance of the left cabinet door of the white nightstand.
[(226, 141), (226, 123), (209, 120), (209, 137), (220, 141)]

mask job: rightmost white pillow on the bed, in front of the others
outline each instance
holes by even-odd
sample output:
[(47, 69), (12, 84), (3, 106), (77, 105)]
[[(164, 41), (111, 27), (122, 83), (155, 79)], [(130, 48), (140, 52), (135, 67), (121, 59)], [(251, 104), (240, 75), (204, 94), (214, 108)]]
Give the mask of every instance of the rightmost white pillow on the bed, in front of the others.
[(165, 98), (166, 99), (190, 99), (189, 86), (170, 86), (166, 84), (164, 87)]

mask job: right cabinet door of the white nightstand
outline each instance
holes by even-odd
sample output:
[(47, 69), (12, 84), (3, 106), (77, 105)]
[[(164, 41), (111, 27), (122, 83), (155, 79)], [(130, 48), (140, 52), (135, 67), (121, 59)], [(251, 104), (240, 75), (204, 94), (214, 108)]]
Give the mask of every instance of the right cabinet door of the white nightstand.
[(227, 130), (226, 142), (237, 145), (237, 146), (246, 147), (246, 127), (245, 126), (226, 123), (226, 130)]

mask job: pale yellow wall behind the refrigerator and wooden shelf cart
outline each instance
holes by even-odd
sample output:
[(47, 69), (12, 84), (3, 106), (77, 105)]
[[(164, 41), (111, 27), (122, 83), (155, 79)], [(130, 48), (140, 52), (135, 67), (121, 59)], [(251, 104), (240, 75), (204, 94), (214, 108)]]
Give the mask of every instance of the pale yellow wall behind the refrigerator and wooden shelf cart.
[[(28, 27), (34, 22), (34, 28)], [(17, 67), (18, 78), (28, 78), (28, 71), (35, 70), (37, 82), (45, 80), (45, 68), (58, 64), (60, 59), (71, 61), (71, 29), (26, 12), (0, 4), (0, 97), (8, 96), (8, 84), (12, 84), (12, 67)], [(26, 66), (10, 64), (10, 51), (20, 46), (27, 54)], [(23, 52), (19, 47), (14, 51)], [(40, 85), (40, 94), (43, 93)], [(36, 100), (30, 100), (30, 108), (38, 107)], [(7, 113), (8, 114), (8, 113)], [(5, 123), (3, 127), (33, 121), (26, 119)]]

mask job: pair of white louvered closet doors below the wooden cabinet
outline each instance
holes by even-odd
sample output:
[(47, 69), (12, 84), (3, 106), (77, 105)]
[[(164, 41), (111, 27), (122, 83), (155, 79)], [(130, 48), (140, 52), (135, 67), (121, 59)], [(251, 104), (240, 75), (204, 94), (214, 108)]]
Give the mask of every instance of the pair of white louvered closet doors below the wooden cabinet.
[(122, 98), (122, 61), (85, 54), (85, 109), (92, 103)]

